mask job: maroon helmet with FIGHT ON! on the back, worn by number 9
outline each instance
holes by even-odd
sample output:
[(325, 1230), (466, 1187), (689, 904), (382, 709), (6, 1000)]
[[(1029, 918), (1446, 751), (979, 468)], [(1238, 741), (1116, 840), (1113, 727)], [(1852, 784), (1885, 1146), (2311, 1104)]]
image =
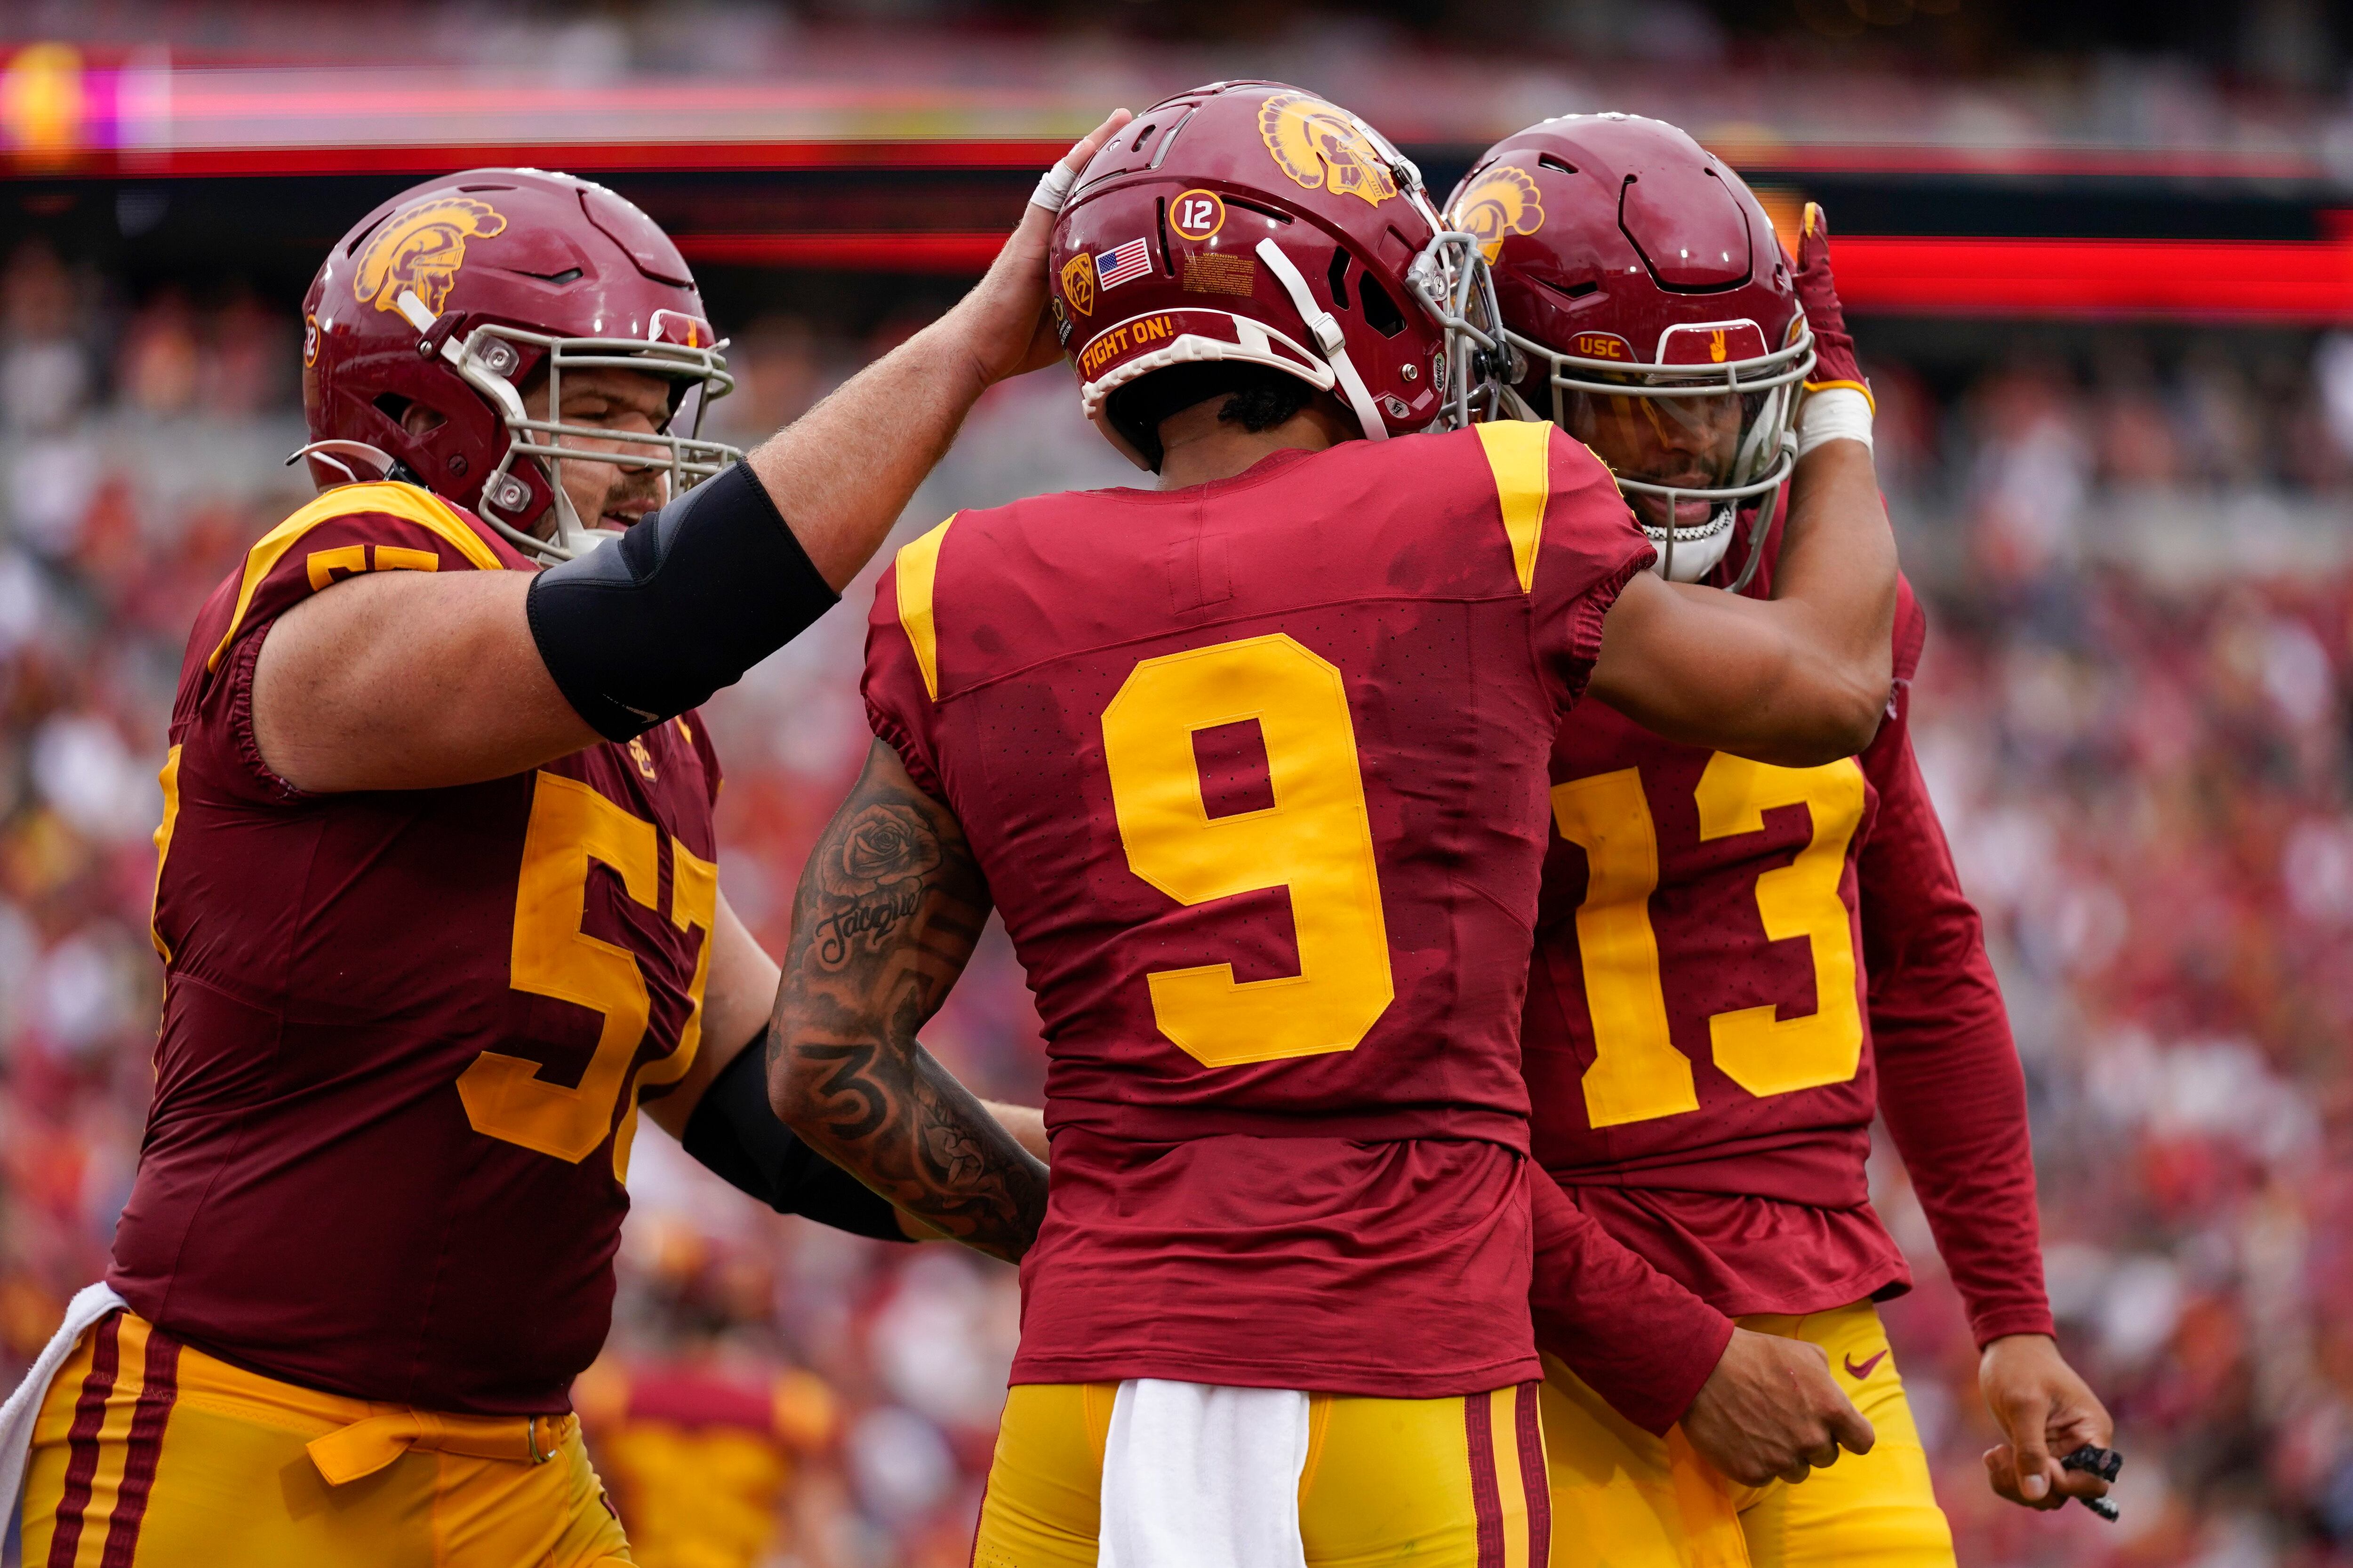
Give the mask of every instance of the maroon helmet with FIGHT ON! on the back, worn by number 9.
[(1468, 423), (1508, 355), (1471, 235), (1348, 110), (1282, 82), (1155, 103), (1094, 155), (1054, 223), (1049, 299), (1087, 418), (1174, 364), (1264, 364), (1337, 395), (1369, 440)]

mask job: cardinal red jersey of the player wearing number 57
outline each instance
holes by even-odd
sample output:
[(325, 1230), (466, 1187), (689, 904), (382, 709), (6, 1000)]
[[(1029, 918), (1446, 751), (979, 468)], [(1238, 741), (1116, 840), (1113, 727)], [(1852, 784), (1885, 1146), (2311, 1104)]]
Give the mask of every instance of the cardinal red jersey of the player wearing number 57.
[(108, 1281), (315, 1389), (562, 1410), (612, 1307), (640, 1091), (694, 1058), (718, 905), (699, 719), (454, 790), (304, 795), (261, 632), (360, 571), (525, 562), (407, 484), (327, 491), (188, 639), (155, 835), (155, 1103)]

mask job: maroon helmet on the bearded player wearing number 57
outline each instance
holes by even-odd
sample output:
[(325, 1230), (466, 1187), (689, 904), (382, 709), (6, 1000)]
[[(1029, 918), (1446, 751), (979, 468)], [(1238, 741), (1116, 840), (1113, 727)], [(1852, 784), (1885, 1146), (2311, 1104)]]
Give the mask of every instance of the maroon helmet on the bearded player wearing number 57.
[[(609, 531), (574, 515), (565, 458), (666, 468), (675, 496), (744, 456), (701, 440), (706, 404), (734, 388), (722, 350), (678, 247), (633, 205), (569, 174), (468, 169), (376, 207), (311, 280), (296, 456), (320, 487), (414, 475), (525, 555), (569, 559)], [(666, 376), (668, 423), (560, 423), (576, 369)], [(520, 388), (541, 371), (548, 418), (527, 418)], [(412, 404), (440, 423), (409, 435)]]

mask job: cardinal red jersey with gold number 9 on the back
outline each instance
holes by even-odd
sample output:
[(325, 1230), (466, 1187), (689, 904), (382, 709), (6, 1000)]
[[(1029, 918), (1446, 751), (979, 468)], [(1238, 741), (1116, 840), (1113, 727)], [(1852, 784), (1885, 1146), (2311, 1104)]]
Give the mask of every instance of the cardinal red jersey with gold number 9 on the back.
[(972, 837), (1049, 1053), (1016, 1382), (1537, 1375), (1546, 752), (1649, 555), (1551, 425), (1021, 501), (899, 552), (875, 733)]

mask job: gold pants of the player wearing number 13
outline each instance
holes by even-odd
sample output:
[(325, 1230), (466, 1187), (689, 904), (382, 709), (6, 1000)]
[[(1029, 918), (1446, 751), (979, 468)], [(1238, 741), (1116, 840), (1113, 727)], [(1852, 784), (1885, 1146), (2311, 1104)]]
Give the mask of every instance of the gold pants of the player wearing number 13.
[(1546, 1359), (1551, 1568), (1953, 1568), (1953, 1533), (1878, 1309), (1746, 1316), (1741, 1328), (1821, 1345), (1878, 1434), (1871, 1453), (1842, 1453), (1795, 1486), (1734, 1486), (1680, 1427), (1642, 1432)]

